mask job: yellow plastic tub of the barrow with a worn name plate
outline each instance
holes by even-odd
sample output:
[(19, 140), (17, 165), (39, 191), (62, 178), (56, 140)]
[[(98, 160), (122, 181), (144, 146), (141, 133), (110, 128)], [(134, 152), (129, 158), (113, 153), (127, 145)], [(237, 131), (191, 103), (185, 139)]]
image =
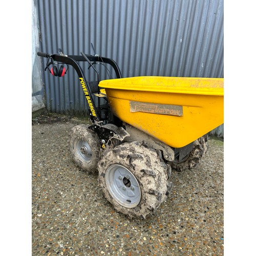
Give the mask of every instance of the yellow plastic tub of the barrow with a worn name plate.
[[(224, 122), (223, 82), (223, 78), (141, 76), (103, 80), (99, 87), (122, 121), (169, 146), (182, 147)], [(172, 114), (175, 108), (178, 116)]]

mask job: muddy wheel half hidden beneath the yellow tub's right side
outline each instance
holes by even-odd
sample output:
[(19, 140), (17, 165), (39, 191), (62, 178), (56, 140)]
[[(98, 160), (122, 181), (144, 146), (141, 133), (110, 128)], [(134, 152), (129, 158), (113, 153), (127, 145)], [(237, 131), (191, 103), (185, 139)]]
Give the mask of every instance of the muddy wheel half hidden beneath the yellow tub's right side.
[(184, 162), (175, 163), (168, 162), (172, 169), (178, 170), (178, 172), (182, 172), (182, 170), (192, 169), (197, 166), (197, 164), (201, 161), (208, 150), (208, 142), (207, 135), (204, 135), (194, 141), (193, 150), (189, 153), (189, 156), (186, 158)]

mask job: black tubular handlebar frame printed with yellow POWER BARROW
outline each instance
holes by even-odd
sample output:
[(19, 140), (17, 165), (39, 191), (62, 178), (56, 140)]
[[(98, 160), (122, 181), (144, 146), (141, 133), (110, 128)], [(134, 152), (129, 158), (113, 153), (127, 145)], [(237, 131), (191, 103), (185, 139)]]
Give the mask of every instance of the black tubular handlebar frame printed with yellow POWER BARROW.
[[(107, 63), (107, 64), (111, 65), (112, 68), (114, 69), (114, 71), (116, 73), (116, 77), (121, 78), (121, 71), (120, 71), (119, 67), (117, 66), (117, 63), (113, 59), (110, 59), (110, 58), (105, 58), (105, 57), (101, 57), (101, 56), (93, 56), (93, 55), (88, 55), (88, 54), (82, 54), (82, 56), (80, 56), (80, 55), (69, 55), (68, 56), (68, 55), (37, 52), (37, 55), (40, 57), (51, 58), (53, 61), (71, 65), (75, 69), (76, 73), (78, 74), (79, 82), (82, 86), (84, 96), (86, 96), (86, 99), (87, 99), (90, 120), (93, 124), (100, 123), (102, 120), (100, 120), (99, 108), (96, 109), (96, 107), (95, 107), (95, 102), (92, 98), (92, 92), (91, 92), (89, 83), (86, 80), (86, 77), (84, 76), (82, 68), (80, 67), (80, 65), (77, 62), (78, 61), (87, 61), (90, 63), (90, 61), (91, 61), (91, 62)], [(84, 57), (83, 55), (85, 55), (86, 57)]]

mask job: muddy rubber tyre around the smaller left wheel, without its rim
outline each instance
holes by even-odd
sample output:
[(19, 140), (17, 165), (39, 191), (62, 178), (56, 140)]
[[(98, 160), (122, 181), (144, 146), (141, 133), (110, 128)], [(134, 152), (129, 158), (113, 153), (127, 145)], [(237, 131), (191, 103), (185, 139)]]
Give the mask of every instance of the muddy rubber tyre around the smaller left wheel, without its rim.
[[(81, 140), (87, 141), (91, 147), (92, 159), (89, 162), (84, 161), (84, 159), (77, 154), (76, 144)], [(87, 173), (97, 174), (97, 164), (100, 160), (100, 141), (94, 131), (88, 129), (84, 124), (73, 127), (70, 132), (70, 152), (78, 167)]]

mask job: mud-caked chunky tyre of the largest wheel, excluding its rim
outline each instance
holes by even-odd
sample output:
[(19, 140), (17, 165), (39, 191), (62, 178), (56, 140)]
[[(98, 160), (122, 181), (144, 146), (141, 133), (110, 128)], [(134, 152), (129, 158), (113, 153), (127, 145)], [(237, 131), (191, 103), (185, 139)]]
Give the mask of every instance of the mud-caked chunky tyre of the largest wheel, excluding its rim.
[[(126, 167), (136, 177), (141, 189), (141, 200), (137, 206), (126, 208), (109, 193), (105, 183), (105, 173), (113, 164)], [(166, 198), (167, 166), (160, 161), (156, 151), (147, 147), (143, 142), (123, 143), (113, 150), (105, 151), (98, 163), (98, 171), (98, 182), (104, 197), (117, 211), (130, 219), (145, 219), (146, 216), (154, 214)]]

